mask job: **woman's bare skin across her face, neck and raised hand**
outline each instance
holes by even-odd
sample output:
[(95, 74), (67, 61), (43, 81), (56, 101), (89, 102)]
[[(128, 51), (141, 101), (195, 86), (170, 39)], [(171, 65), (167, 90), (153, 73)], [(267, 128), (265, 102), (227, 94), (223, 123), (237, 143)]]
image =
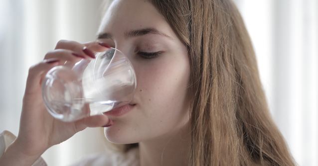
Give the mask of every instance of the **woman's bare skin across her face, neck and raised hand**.
[[(125, 37), (127, 32), (149, 28), (153, 28), (152, 33)], [(155, 6), (144, 0), (115, 0), (99, 33), (103, 35), (94, 42), (59, 41), (43, 62), (30, 68), (19, 134), (0, 159), (0, 166), (30, 166), (49, 147), (86, 127), (107, 126), (111, 120), (113, 125), (105, 127), (106, 138), (113, 143), (139, 143), (141, 166), (187, 164), (190, 65), (186, 47)], [(99, 45), (100, 41), (121, 50), (134, 66), (137, 89), (131, 110), (118, 117), (96, 115), (70, 123), (54, 119), (41, 98), (40, 85), (45, 73), (65, 61), (80, 61), (73, 52), (89, 58), (82, 51), (84, 46), (92, 52), (105, 51), (107, 48)]]

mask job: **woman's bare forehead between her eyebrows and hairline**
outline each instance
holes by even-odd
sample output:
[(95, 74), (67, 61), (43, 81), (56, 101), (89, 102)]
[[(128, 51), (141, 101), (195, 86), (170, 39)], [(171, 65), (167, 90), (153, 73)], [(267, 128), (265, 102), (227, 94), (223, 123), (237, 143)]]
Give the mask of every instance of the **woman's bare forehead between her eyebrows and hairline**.
[(174, 36), (169, 24), (148, 0), (115, 0), (102, 20), (99, 34), (145, 28), (159, 29), (169, 36)]

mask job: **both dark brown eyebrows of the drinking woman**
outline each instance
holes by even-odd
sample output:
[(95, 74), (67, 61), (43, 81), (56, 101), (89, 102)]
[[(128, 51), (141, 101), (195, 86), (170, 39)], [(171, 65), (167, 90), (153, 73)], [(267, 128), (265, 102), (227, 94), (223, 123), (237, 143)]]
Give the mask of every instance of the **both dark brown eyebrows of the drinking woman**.
[[(125, 32), (124, 36), (125, 36), (125, 39), (128, 40), (128, 39), (131, 39), (134, 37), (143, 36), (143, 35), (147, 35), (147, 34), (157, 34), (157, 35), (167, 37), (170, 40), (173, 40), (172, 37), (164, 34), (163, 32), (160, 32), (156, 28), (145, 28), (145, 29), (131, 30), (131, 31)], [(97, 36), (97, 39), (112, 39), (112, 38), (113, 38), (112, 35), (110, 33), (107, 33), (107, 32), (100, 33)]]

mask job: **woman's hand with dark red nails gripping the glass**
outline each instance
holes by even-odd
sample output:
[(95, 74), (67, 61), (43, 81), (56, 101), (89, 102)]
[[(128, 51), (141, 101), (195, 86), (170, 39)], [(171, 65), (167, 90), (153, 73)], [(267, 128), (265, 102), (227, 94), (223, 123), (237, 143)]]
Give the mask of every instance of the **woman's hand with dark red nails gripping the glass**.
[[(83, 58), (95, 58), (94, 52), (106, 51), (106, 47), (109, 47), (109, 45), (98, 41), (80, 44), (74, 41), (61, 40), (57, 43), (55, 50), (45, 55), (44, 61), (29, 69), (19, 133), (3, 157), (12, 158), (7, 152), (13, 152), (13, 154), (25, 158), (25, 161), (33, 158), (36, 160), (49, 147), (69, 139), (86, 127), (109, 126), (112, 124), (112, 121), (105, 115), (90, 116), (75, 122), (63, 122), (54, 119), (46, 110), (41, 95), (42, 80), (50, 69), (63, 65), (66, 61), (78, 62)], [(28, 157), (29, 159), (27, 159)], [(3, 164), (4, 159), (2, 158), (0, 165)], [(22, 162), (23, 160), (21, 159)], [(24, 164), (26, 163), (23, 162)]]

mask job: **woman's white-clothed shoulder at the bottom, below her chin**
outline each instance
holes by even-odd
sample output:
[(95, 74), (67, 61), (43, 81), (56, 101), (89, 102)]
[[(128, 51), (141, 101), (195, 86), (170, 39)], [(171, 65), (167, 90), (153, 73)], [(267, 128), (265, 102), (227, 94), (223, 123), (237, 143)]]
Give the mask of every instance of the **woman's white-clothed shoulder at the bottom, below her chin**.
[(127, 153), (98, 153), (85, 156), (70, 166), (139, 166), (139, 148)]

